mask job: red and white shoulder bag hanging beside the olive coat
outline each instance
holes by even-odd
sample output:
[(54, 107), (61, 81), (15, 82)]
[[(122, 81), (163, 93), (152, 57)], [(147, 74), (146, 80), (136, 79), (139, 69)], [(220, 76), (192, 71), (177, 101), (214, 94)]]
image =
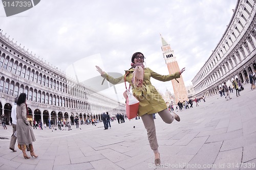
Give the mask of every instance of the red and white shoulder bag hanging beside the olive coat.
[[(129, 72), (127, 72), (129, 74)], [(126, 74), (126, 75), (127, 75)], [(128, 119), (137, 117), (139, 111), (140, 102), (135, 98), (132, 92), (130, 92), (131, 85), (129, 89), (126, 87), (126, 75), (124, 77), (124, 83), (126, 90), (123, 93), (124, 98), (126, 99), (126, 115)]]

